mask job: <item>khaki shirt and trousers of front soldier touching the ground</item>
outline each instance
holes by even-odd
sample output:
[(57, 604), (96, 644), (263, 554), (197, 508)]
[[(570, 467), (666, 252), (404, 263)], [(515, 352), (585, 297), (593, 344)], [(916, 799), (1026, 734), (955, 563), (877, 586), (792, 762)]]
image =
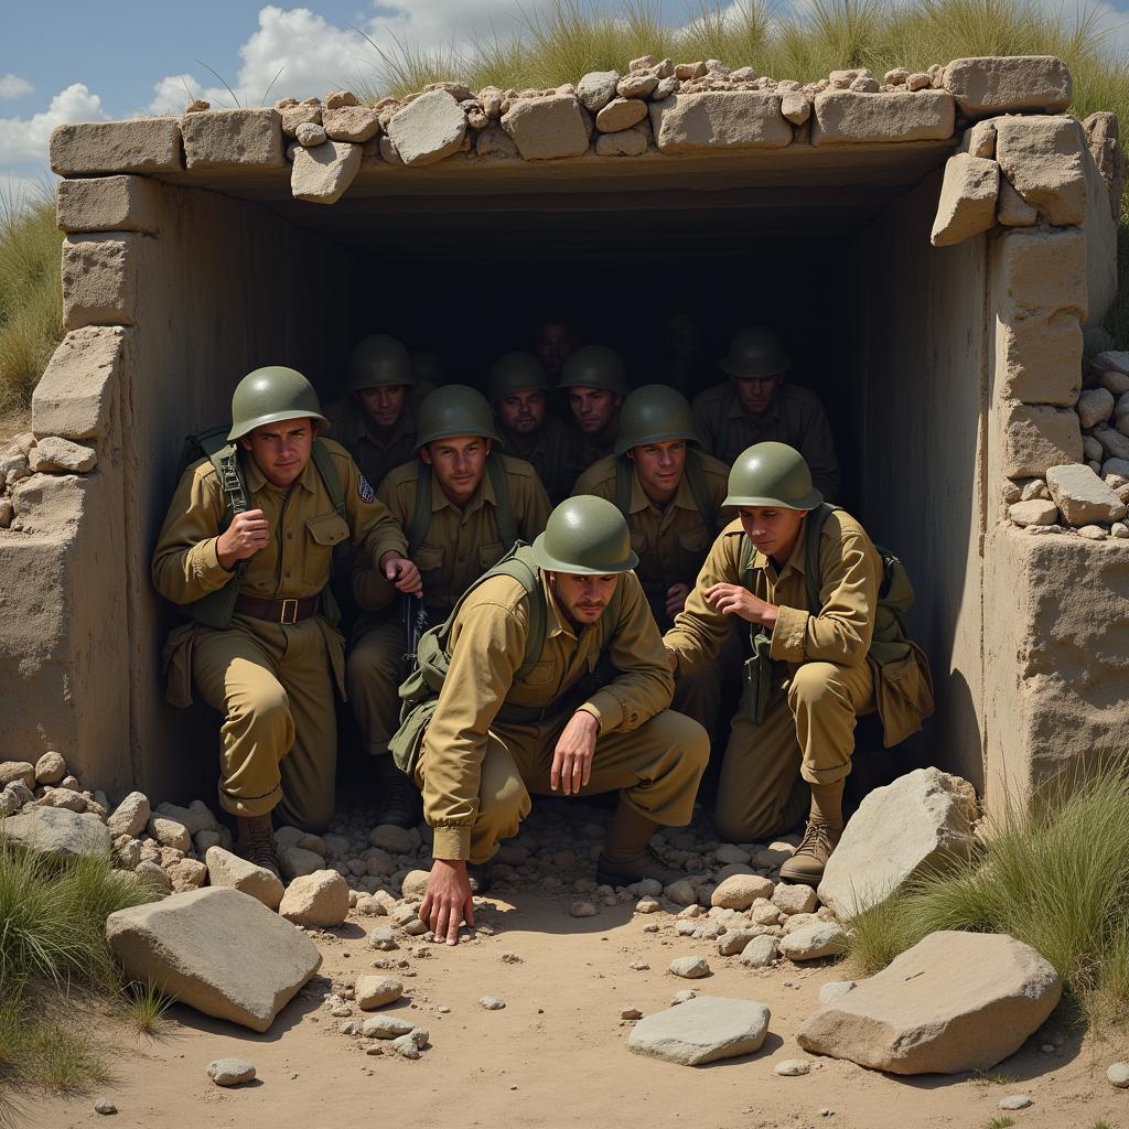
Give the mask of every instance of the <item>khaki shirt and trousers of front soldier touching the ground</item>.
[[(561, 730), (575, 709), (554, 704), (595, 669), (603, 627), (577, 634), (544, 587), (545, 644), (528, 676), (514, 682), (528, 634), (530, 597), (510, 577), (480, 585), (463, 604), (450, 636), (450, 668), (423, 737), (415, 779), (423, 791), (432, 854), (485, 863), (498, 842), (516, 834), (530, 794), (549, 795), (550, 769)], [(620, 579), (618, 618), (606, 654), (616, 677), (579, 709), (599, 721), (590, 796), (619, 789), (622, 799), (656, 823), (690, 822), (709, 741), (694, 721), (666, 707), (673, 680), (662, 639), (639, 581)], [(502, 704), (544, 709), (535, 724), (509, 724)]]

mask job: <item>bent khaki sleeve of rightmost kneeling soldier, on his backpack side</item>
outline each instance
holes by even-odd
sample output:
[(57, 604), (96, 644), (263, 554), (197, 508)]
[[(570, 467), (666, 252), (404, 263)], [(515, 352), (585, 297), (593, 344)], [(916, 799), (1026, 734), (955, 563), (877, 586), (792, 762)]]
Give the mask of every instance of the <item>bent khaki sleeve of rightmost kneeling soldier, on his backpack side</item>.
[[(834, 520), (834, 515), (828, 520)], [(841, 536), (824, 536), (820, 575), (820, 614), (778, 609), (770, 654), (788, 663), (860, 666), (874, 634), (882, 579), (878, 553), (864, 534), (844, 531)]]

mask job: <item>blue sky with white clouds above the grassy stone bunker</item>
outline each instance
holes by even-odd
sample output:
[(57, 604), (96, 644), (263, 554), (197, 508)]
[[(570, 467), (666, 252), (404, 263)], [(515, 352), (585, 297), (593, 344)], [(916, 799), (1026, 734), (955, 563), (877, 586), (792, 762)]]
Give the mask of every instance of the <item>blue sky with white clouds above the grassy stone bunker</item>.
[[(244, 104), (270, 94), (307, 97), (349, 85), (373, 58), (351, 28), (378, 42), (392, 35), (421, 45), (465, 43), (491, 27), (516, 26), (520, 8), (545, 0), (312, 0), (295, 7), (245, 0), (41, 0), (5, 5), (0, 38), (0, 192), (44, 181), (51, 130), (67, 121), (178, 113), (193, 96), (215, 104), (228, 95), (201, 60)], [(615, 0), (589, 0), (615, 8)], [(1040, 0), (1075, 11), (1087, 0)], [(660, 0), (664, 15), (689, 19), (697, 0)], [(1129, 0), (1088, 0), (1121, 24), (1129, 51)], [(1127, 20), (1127, 23), (1121, 23)], [(755, 62), (755, 60), (750, 60)], [(579, 76), (577, 76), (579, 78)]]

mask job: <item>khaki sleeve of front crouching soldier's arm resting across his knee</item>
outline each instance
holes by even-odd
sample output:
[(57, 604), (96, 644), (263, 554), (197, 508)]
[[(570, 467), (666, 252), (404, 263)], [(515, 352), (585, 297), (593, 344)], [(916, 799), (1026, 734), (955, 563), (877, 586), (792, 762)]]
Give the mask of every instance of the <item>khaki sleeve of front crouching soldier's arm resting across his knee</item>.
[(596, 718), (601, 733), (636, 729), (674, 697), (674, 676), (647, 597), (633, 572), (623, 574), (620, 584), (620, 616), (607, 649), (619, 674), (580, 707)]

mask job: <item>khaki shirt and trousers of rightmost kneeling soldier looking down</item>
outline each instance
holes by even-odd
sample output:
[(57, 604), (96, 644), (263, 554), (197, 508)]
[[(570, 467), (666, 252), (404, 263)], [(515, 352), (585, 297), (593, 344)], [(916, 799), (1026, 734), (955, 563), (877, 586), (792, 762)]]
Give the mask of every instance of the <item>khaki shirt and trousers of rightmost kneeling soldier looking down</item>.
[[(749, 716), (747, 691), (733, 718), (717, 789), (717, 825), (733, 842), (755, 842), (789, 830), (806, 813), (809, 784), (833, 784), (850, 772), (855, 719), (875, 708), (867, 651), (874, 631), (882, 560), (849, 514), (832, 513), (820, 539), (819, 614), (807, 611), (806, 523), (777, 571), (754, 553), (751, 590), (779, 606), (771, 651), (781, 665), (761, 725)], [(734, 628), (750, 624), (706, 601), (715, 584), (741, 584), (739, 522), (714, 542), (685, 610), (663, 640), (679, 656), (679, 674), (710, 662)]]

